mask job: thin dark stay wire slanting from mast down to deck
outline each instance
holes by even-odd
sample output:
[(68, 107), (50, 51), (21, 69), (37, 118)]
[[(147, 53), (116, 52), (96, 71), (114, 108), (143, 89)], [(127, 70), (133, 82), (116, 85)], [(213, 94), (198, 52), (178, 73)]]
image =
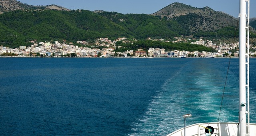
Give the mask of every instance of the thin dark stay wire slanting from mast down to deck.
[[(236, 30), (235, 30), (235, 34), (234, 34), (234, 40), (233, 40), (233, 46), (234, 46), (234, 43), (235, 43), (235, 39), (236, 39), (236, 32), (238, 30), (238, 23), (239, 23), (239, 18), (237, 20), (237, 24), (236, 24)], [(221, 112), (221, 107), (222, 107), (222, 103), (223, 103), (223, 98), (224, 98), (224, 93), (225, 93), (225, 88), (226, 88), (226, 83), (227, 83), (227, 80), (228, 80), (228, 71), (229, 71), (229, 67), (230, 67), (230, 62), (231, 62), (231, 55), (229, 57), (229, 63), (228, 63), (228, 70), (227, 70), (227, 74), (226, 74), (226, 80), (225, 80), (225, 85), (224, 85), (224, 90), (223, 90), (223, 94), (222, 94), (222, 100), (221, 100), (221, 104), (220, 104), (220, 112)], [(220, 120), (220, 112), (219, 112), (219, 116), (218, 116), (218, 122), (217, 122), (217, 129), (218, 129), (218, 125), (219, 125), (219, 120)], [(215, 132), (215, 135), (217, 135), (217, 130)]]

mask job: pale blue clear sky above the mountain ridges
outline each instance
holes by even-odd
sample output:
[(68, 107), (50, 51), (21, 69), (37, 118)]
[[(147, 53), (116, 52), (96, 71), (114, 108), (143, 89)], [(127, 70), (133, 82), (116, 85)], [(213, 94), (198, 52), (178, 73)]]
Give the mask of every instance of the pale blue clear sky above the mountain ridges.
[[(71, 10), (104, 10), (122, 14), (152, 14), (172, 4), (180, 2), (192, 7), (208, 6), (215, 11), (222, 11), (238, 18), (239, 0), (18, 0), (29, 5), (59, 5)], [(256, 17), (256, 0), (250, 0), (250, 18)]]

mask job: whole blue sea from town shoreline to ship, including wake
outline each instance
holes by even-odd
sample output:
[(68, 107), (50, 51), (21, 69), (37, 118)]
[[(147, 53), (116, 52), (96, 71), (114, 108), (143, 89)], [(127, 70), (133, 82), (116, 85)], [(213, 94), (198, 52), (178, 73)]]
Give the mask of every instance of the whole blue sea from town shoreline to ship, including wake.
[[(0, 135), (165, 136), (184, 114), (238, 122), (238, 69), (238, 58), (1, 57)], [(251, 123), (255, 102), (251, 58)]]

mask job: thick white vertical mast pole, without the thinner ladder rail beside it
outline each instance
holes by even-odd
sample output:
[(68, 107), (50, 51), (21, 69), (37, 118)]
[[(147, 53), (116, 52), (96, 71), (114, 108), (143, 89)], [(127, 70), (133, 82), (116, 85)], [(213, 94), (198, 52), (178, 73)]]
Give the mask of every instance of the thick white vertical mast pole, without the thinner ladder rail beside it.
[(239, 128), (246, 136), (246, 0), (240, 0), (239, 20)]

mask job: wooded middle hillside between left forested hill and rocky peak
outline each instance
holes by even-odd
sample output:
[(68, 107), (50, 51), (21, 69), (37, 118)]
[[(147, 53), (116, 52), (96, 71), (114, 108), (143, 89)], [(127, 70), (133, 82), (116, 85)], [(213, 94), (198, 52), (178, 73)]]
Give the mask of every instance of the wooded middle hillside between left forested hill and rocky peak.
[(147, 14), (120, 14), (117, 12), (98, 13), (130, 31), (130, 35), (138, 39), (160, 36), (170, 38), (183, 32), (174, 21), (162, 21), (157, 16)]

